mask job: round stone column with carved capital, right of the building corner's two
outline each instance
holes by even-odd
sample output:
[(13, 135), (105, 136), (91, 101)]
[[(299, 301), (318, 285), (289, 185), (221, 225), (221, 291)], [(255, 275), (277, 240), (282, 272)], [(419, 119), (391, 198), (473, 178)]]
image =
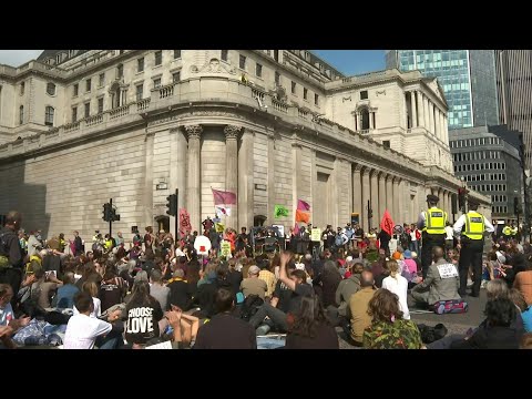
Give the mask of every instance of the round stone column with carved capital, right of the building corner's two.
[(225, 190), (236, 194), (236, 204), (228, 205), (231, 208), (231, 216), (225, 218), (225, 226), (233, 227), (239, 232), (238, 225), (238, 134), (241, 133), (241, 126), (226, 125), (224, 127), (225, 133), (225, 166), (227, 174), (225, 176)]

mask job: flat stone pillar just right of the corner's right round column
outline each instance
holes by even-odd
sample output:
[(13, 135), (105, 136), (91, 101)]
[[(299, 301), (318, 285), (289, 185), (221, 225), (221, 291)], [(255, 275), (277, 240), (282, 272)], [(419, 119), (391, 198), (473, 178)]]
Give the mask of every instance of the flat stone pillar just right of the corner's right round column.
[[(253, 142), (255, 133), (247, 129), (242, 133), (238, 150), (238, 227), (253, 227), (254, 180), (253, 180)], [(239, 232), (239, 229), (238, 229)]]

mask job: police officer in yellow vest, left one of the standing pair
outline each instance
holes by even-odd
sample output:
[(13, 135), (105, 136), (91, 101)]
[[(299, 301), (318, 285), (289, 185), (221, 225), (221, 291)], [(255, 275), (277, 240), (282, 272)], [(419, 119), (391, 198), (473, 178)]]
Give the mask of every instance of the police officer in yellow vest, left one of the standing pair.
[(434, 246), (446, 247), (447, 212), (438, 207), (439, 201), (440, 198), (436, 195), (427, 195), (428, 209), (421, 212), (418, 217), (418, 228), (422, 231), (421, 268), (423, 279), (432, 263), (432, 248)]

